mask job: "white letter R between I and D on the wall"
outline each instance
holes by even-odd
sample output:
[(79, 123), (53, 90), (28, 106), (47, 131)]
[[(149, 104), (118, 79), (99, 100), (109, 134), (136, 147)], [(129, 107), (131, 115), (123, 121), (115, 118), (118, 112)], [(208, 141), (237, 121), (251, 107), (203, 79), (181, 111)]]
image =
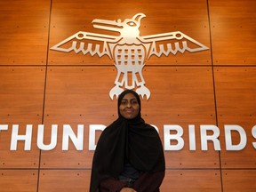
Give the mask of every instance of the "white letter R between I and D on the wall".
[[(220, 150), (220, 129), (215, 125), (200, 125), (201, 131), (201, 148), (202, 150), (208, 150), (207, 140), (212, 140), (214, 149)], [(207, 131), (212, 131), (212, 135), (207, 135)]]

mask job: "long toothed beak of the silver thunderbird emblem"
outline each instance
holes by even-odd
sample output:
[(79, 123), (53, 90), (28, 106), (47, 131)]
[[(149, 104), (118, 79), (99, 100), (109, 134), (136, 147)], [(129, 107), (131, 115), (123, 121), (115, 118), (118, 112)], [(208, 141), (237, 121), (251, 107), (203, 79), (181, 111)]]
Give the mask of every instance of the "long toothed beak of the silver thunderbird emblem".
[(123, 28), (121, 20), (92, 20), (93, 28), (120, 32)]

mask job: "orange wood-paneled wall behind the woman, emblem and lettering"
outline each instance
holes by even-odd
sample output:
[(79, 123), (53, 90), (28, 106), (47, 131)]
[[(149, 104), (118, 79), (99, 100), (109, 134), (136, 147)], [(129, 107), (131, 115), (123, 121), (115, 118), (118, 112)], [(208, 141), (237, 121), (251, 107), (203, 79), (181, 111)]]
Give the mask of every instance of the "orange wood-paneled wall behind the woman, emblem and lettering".
[[(185, 146), (165, 151), (161, 191), (255, 191), (256, 156), (256, 2), (253, 0), (12, 0), (0, 1), (0, 191), (88, 191), (93, 151), (89, 124), (116, 119), (116, 68), (107, 56), (56, 52), (50, 48), (78, 31), (98, 33), (92, 20), (124, 20), (138, 12), (140, 36), (181, 31), (209, 47), (204, 52), (152, 56), (143, 76), (151, 92), (142, 100), (142, 116), (159, 128), (184, 129)], [(10, 150), (12, 124), (33, 124), (31, 150), (19, 141)], [(37, 125), (49, 142), (58, 124), (57, 147), (36, 147)], [(84, 150), (61, 150), (61, 127), (84, 124)], [(196, 125), (196, 151), (188, 148), (188, 124)], [(221, 151), (202, 151), (200, 124), (220, 127)], [(241, 151), (225, 149), (224, 124), (239, 124), (247, 134)], [(238, 135), (233, 135), (239, 140)]]

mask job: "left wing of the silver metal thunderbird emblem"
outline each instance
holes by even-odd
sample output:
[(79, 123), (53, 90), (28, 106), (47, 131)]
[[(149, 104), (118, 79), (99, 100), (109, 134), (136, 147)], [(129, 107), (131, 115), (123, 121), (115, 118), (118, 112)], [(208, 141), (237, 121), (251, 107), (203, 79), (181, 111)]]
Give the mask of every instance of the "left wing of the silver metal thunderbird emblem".
[(90, 53), (92, 56), (98, 54), (99, 57), (108, 55), (111, 59), (112, 54), (109, 50), (108, 43), (116, 43), (120, 38), (120, 36), (108, 36), (79, 31), (75, 35), (64, 39), (59, 44), (55, 44), (51, 49), (59, 52), (83, 52), (84, 55)]

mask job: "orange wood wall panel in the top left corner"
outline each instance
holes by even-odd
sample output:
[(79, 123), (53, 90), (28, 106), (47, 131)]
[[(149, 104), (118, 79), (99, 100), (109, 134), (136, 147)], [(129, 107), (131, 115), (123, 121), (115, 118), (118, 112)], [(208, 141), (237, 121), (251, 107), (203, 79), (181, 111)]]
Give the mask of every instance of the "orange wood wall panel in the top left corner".
[(50, 1), (1, 1), (0, 12), (0, 65), (45, 65)]

